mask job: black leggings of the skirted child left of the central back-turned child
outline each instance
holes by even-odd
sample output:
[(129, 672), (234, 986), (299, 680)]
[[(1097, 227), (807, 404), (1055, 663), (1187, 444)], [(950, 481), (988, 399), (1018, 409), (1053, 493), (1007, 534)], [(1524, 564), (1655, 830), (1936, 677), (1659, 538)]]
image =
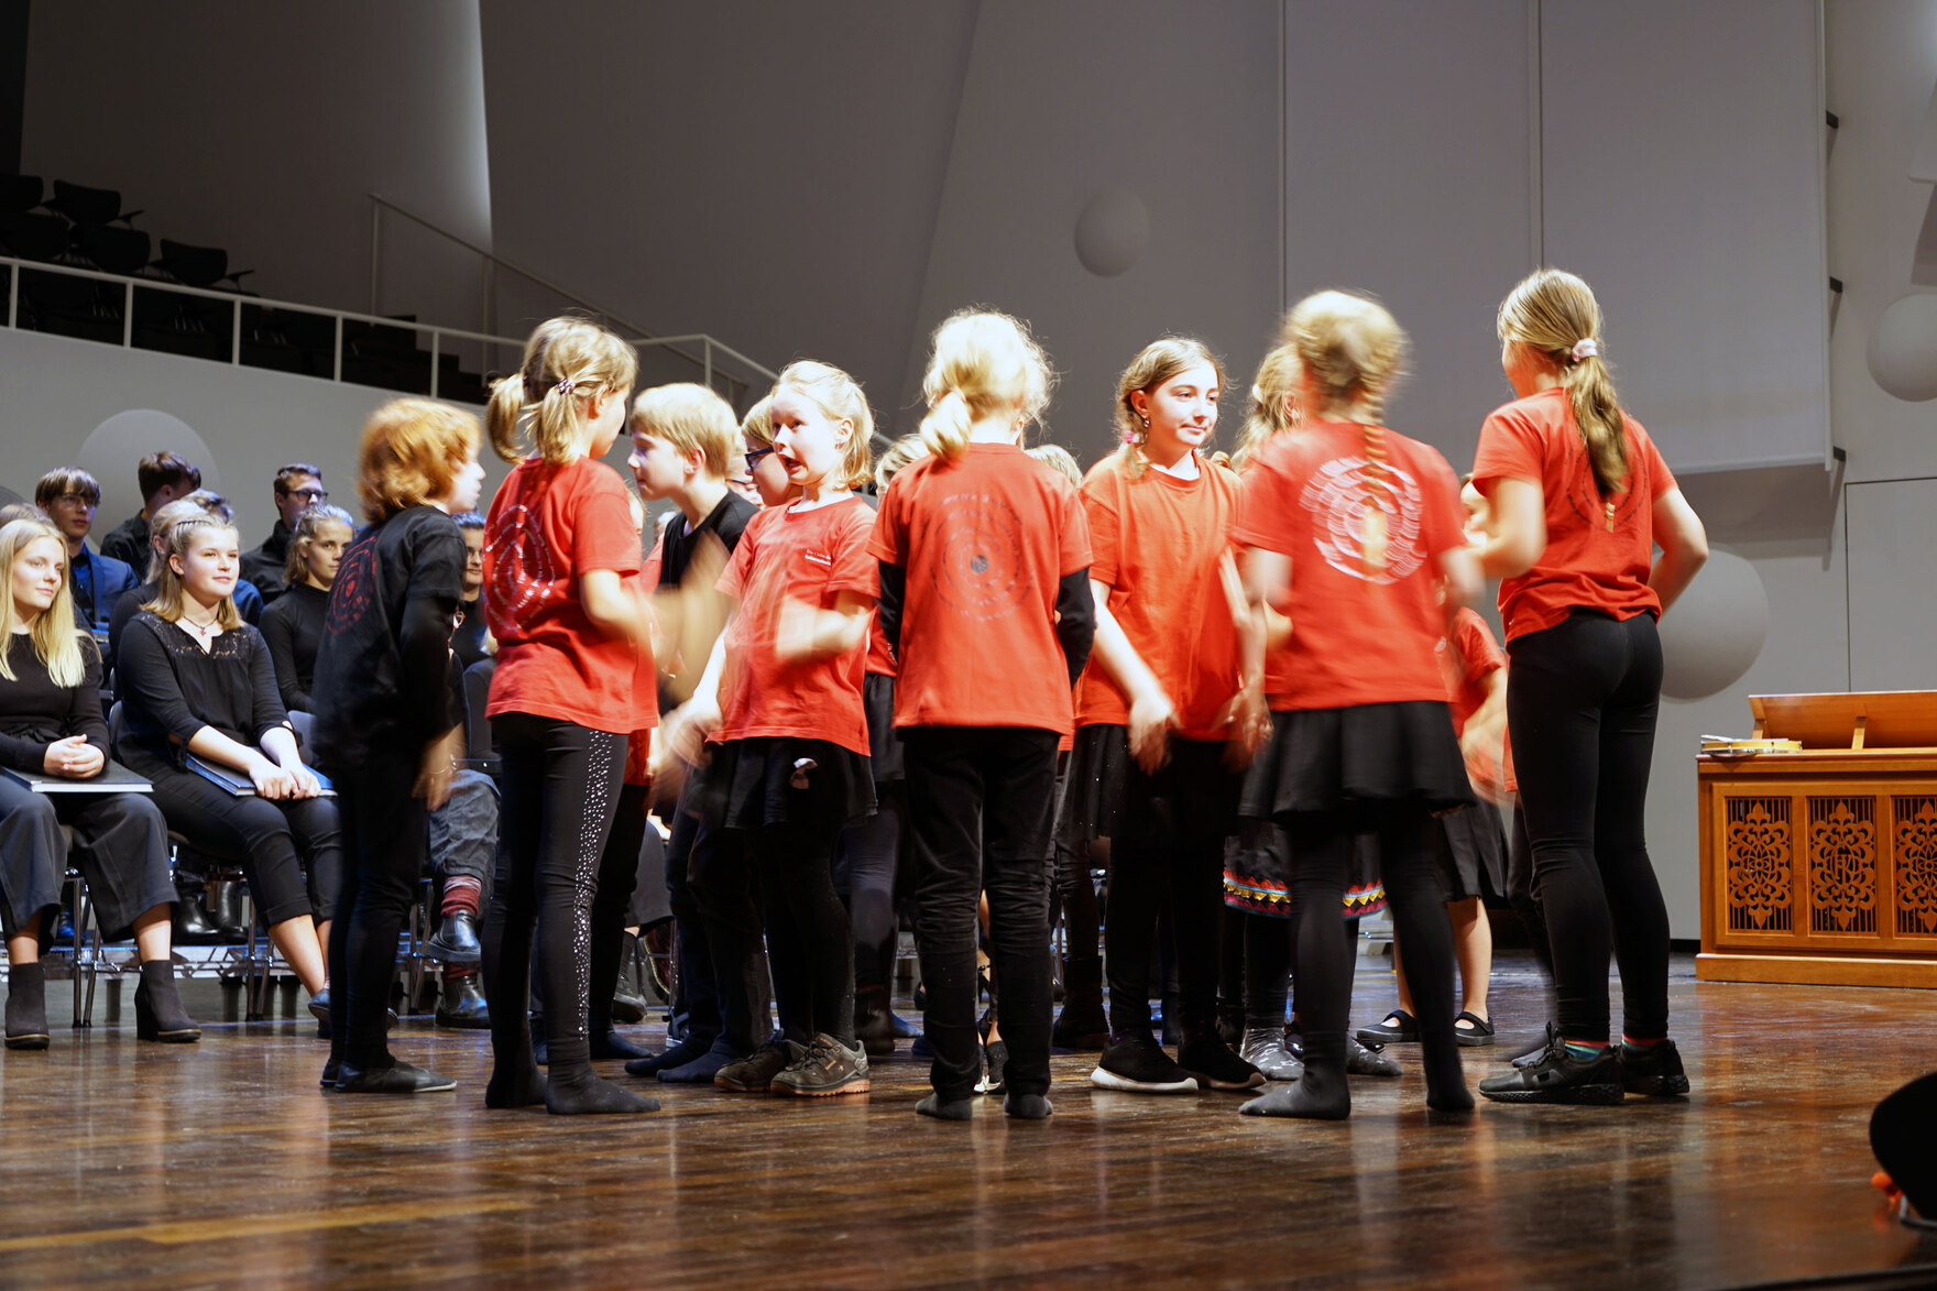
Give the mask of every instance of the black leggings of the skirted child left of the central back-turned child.
[[(806, 967), (806, 1037), (833, 1035), (854, 1047), (854, 925), (835, 894), (833, 853), (837, 828), (806, 822), (748, 830), (746, 849), (765, 894), (767, 940), (786, 944), (792, 934)], [(794, 1033), (783, 1008), (781, 1025)]]

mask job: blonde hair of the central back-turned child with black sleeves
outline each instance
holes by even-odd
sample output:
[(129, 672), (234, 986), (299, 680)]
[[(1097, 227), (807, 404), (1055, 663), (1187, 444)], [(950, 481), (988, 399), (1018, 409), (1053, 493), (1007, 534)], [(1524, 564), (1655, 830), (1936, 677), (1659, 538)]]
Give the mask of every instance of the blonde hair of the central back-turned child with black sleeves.
[(1056, 374), (1029, 324), (996, 310), (957, 310), (939, 328), (922, 376), (928, 415), (920, 436), (928, 452), (955, 461), (968, 452), (976, 421), (1015, 409), (1036, 421), (1050, 405)]

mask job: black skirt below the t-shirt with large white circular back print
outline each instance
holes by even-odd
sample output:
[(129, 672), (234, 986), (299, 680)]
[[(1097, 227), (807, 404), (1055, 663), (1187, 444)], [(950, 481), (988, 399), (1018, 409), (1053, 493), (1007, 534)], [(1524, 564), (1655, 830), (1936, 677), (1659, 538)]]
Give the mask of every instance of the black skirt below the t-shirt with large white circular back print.
[(1348, 803), (1410, 801), (1443, 812), (1474, 801), (1445, 704), (1300, 708), (1273, 713), (1271, 725), (1238, 808), (1253, 820)]

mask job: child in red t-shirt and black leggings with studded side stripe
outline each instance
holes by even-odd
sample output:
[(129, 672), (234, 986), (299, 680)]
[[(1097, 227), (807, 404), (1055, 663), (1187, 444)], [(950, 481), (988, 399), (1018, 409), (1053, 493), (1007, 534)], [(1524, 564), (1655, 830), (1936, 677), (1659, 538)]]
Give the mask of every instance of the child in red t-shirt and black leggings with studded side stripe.
[[(599, 461), (626, 425), (639, 359), (581, 318), (540, 324), (519, 370), (492, 388), (484, 425), (513, 461), (484, 539), (484, 616), (498, 638), (486, 715), (504, 758), (498, 876), (484, 921), (496, 1066), (486, 1107), (554, 1113), (659, 1107), (593, 1074), (606, 1035), (587, 1022), (591, 903), (626, 773), (626, 737), (653, 721), (637, 688), (651, 614), (626, 585), (639, 533), (618, 473)], [(529, 444), (523, 428), (529, 426)], [(525, 1010), (533, 927), (550, 1072)]]

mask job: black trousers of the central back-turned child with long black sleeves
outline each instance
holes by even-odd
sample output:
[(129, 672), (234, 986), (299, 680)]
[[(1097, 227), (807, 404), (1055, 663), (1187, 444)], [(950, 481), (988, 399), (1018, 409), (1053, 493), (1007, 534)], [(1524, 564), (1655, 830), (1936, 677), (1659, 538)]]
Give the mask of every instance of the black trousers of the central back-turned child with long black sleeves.
[[(928, 1080), (943, 1099), (974, 1093), (976, 905), (1015, 1093), (1050, 1087), (1050, 826), (1056, 733), (1032, 727), (903, 727), (914, 845), (914, 930), (928, 987)], [(1114, 909), (1112, 909), (1114, 919)]]

